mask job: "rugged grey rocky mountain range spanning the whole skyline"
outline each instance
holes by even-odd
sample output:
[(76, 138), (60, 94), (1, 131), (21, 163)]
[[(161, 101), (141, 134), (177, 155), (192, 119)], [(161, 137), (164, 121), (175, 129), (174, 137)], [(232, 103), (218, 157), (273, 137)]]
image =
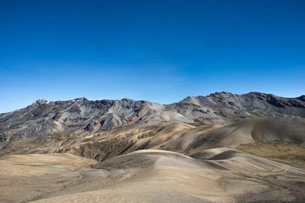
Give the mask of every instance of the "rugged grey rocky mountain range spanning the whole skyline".
[(305, 118), (305, 96), (281, 98), (258, 92), (244, 95), (216, 92), (206, 97), (188, 97), (169, 105), (130, 99), (38, 100), (26, 108), (0, 114), (0, 142), (58, 132), (90, 135), (124, 126), (174, 122), (224, 125), (247, 118), (271, 116)]

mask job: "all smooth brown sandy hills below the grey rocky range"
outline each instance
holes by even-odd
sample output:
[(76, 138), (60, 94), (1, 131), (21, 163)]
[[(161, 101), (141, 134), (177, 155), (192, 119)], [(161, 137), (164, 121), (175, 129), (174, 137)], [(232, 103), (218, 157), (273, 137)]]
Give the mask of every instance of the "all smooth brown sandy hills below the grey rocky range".
[(304, 202), (304, 123), (172, 123), (7, 143), (0, 202)]

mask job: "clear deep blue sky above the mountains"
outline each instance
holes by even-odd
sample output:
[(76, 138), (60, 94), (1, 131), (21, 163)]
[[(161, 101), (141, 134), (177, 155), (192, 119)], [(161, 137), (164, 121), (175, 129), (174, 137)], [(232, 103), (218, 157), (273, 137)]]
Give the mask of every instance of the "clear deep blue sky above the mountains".
[(305, 0), (0, 0), (0, 113), (305, 94)]

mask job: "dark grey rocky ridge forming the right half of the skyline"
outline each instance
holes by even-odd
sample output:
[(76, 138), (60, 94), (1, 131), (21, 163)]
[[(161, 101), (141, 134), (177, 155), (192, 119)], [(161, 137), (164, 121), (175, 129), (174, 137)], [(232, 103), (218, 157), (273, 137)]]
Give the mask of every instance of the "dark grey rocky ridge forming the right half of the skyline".
[(305, 96), (282, 98), (272, 94), (250, 92), (236, 95), (216, 92), (209, 96), (188, 97), (180, 102), (167, 105), (180, 114), (209, 122), (211, 118), (219, 123), (230, 124), (246, 118), (270, 116), (295, 116), (305, 118)]

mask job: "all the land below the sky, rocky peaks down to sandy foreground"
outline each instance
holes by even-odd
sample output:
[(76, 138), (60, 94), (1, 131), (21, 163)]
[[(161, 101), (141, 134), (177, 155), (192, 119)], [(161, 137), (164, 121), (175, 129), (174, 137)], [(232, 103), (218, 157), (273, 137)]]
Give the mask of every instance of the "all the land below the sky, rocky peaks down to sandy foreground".
[(0, 202), (304, 202), (305, 96), (38, 100), (0, 114)]

